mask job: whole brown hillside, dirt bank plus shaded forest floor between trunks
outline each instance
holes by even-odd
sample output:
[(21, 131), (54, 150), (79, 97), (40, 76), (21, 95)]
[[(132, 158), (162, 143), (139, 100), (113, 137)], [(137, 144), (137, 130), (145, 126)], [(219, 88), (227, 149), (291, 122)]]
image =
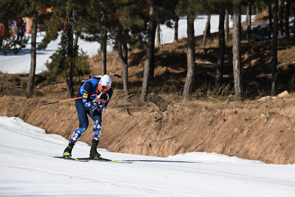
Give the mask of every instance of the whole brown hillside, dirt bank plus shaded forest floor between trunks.
[[(252, 24), (266, 22), (266, 19), (264, 14), (260, 14)], [(242, 35), (245, 31), (243, 28)], [(259, 29), (259, 32), (267, 31)], [(233, 91), (231, 41), (226, 44), (225, 51), (225, 85), (216, 90), (211, 84), (215, 80), (218, 35), (212, 34), (205, 47), (200, 46), (202, 37), (196, 37), (196, 75), (190, 102), (181, 102), (186, 77), (186, 38), (156, 47), (155, 77), (149, 92), (155, 92), (168, 101), (165, 112), (158, 110), (152, 102), (139, 101), (145, 53), (130, 52), (128, 82), (131, 102), (124, 100), (122, 80), (112, 78), (113, 102), (103, 114), (100, 148), (160, 157), (183, 152), (216, 152), (266, 163), (293, 164), (294, 46), (284, 39), (278, 40), (277, 94), (287, 90), (289, 95), (257, 101), (270, 95), (272, 43), (258, 42), (258, 35), (248, 43), (245, 36), (242, 38), (243, 89), (246, 95), (242, 102), (230, 98)], [(100, 71), (99, 56), (88, 59), (88, 62), (91, 73), (97, 74)], [(117, 52), (108, 53), (107, 68), (109, 75), (120, 75), (122, 67)], [(39, 74), (35, 81), (37, 91), (26, 96), (27, 76), (0, 74), (0, 115), (18, 116), (44, 128), (47, 133), (57, 133), (70, 139), (78, 126), (73, 101), (36, 108), (36, 105), (67, 99), (65, 79), (58, 78), (58, 83), (48, 85), (45, 76)], [(81, 84), (81, 79), (75, 79), (75, 92)], [(80, 140), (90, 144), (91, 134), (89, 126)]]

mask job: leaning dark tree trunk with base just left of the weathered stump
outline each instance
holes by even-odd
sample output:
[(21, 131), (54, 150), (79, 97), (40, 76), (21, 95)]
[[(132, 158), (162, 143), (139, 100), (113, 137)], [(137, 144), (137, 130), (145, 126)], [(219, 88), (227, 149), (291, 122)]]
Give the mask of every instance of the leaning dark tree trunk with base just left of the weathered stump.
[(143, 72), (143, 80), (142, 80), (142, 89), (140, 100), (146, 101), (146, 95), (148, 94), (148, 87), (151, 79), (151, 75), (154, 74), (154, 48), (155, 48), (155, 31), (157, 24), (153, 20), (152, 16), (154, 14), (153, 5), (155, 4), (155, 0), (151, 3), (150, 12), (149, 12), (149, 25), (148, 25), (148, 44), (147, 50), (145, 53), (145, 68)]

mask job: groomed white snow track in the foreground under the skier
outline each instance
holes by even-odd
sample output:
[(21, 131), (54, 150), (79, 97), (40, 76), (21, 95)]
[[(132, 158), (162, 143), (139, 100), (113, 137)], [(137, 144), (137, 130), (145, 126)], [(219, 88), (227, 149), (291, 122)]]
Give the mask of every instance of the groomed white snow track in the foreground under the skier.
[[(0, 117), (0, 196), (294, 196), (295, 166), (216, 153), (169, 158), (108, 152), (133, 163), (79, 162), (61, 156), (68, 140), (17, 117)], [(89, 136), (91, 137), (91, 136)], [(73, 157), (90, 146), (77, 142)], [(189, 159), (189, 160), (187, 160)]]

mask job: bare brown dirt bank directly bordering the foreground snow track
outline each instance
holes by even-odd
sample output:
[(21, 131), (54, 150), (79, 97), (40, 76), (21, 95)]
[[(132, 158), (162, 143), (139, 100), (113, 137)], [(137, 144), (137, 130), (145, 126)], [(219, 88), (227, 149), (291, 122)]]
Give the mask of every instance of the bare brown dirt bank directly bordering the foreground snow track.
[[(53, 102), (42, 99), (44, 103)], [(36, 108), (40, 97), (38, 100), (2, 96), (0, 115), (18, 116), (47, 133), (70, 139), (78, 127), (74, 102)], [(151, 102), (129, 103), (126, 109), (129, 113), (113, 102), (103, 113), (100, 148), (160, 157), (216, 152), (273, 164), (295, 163), (294, 95), (264, 102), (232, 101), (213, 109), (178, 102), (170, 103), (165, 112)], [(80, 139), (88, 144), (93, 127), (92, 121), (89, 122)]]

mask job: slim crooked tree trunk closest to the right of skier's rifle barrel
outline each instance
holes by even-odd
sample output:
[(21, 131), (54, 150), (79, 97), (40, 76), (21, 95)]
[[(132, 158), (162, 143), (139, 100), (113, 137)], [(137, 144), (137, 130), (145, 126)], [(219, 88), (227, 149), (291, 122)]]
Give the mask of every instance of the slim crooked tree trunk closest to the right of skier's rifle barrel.
[(129, 101), (129, 90), (128, 90), (128, 64), (125, 63), (122, 51), (122, 26), (119, 28), (118, 32), (118, 56), (119, 62), (122, 66), (122, 75), (123, 75), (123, 89), (126, 102)]

